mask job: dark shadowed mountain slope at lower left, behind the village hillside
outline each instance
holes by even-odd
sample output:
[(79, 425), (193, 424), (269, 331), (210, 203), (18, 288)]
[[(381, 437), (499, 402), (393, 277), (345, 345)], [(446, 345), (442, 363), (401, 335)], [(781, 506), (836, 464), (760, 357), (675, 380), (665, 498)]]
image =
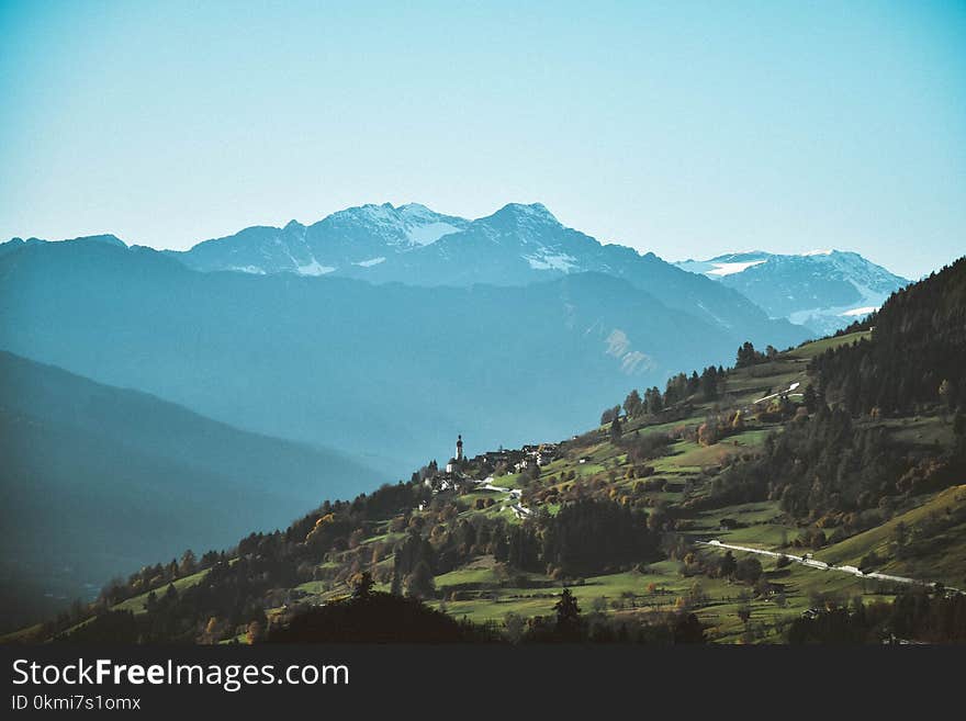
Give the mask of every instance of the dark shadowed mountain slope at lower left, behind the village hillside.
[(378, 480), (337, 453), (3, 351), (0, 458), (4, 623)]

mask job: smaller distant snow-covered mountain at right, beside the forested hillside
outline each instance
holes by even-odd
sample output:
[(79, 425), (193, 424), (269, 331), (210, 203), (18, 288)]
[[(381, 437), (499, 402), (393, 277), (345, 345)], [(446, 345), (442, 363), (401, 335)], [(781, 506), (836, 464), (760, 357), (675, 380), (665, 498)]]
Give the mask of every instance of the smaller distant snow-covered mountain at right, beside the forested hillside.
[(858, 254), (841, 250), (790, 256), (756, 250), (675, 264), (718, 280), (771, 317), (786, 318), (818, 335), (868, 315), (894, 291), (909, 284)]

